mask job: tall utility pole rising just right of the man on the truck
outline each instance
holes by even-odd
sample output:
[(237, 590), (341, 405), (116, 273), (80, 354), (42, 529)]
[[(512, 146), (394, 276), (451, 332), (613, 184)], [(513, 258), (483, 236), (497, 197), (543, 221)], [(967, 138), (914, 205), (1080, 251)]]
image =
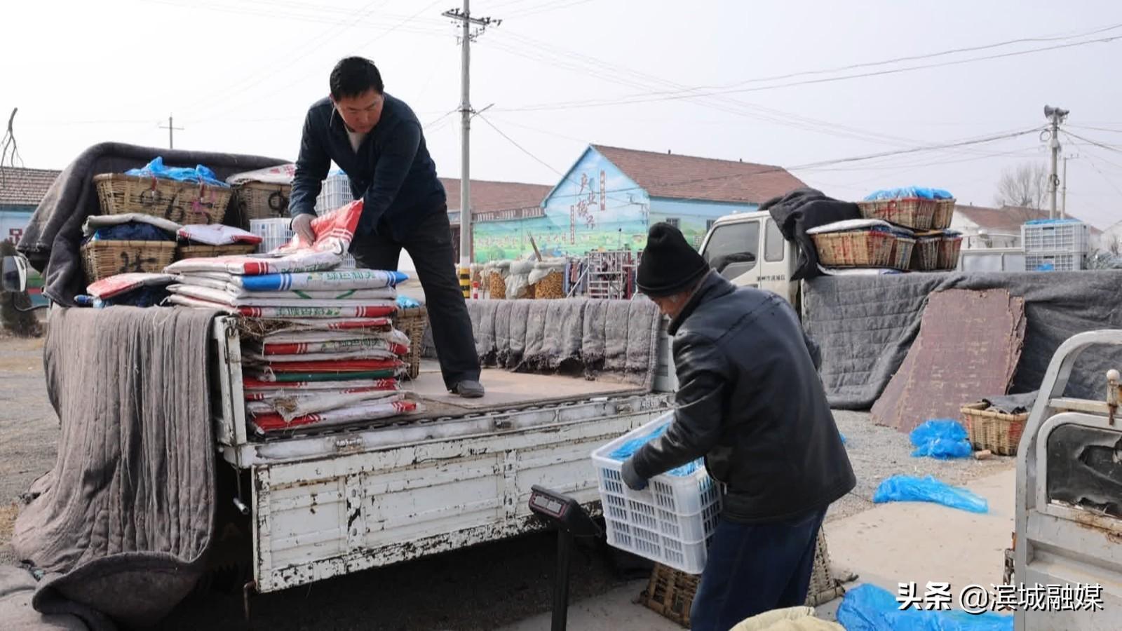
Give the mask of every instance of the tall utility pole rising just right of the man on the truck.
[[(491, 18), (473, 18), (469, 7), (470, 0), (463, 0), (463, 9), (450, 9), (441, 13), (459, 22), (462, 31), (459, 39), (462, 46), (460, 53), (460, 290), (463, 298), (471, 295), (471, 40), (482, 34), (493, 22), (498, 26), (503, 20)], [(472, 30), (472, 25), (476, 28)]]

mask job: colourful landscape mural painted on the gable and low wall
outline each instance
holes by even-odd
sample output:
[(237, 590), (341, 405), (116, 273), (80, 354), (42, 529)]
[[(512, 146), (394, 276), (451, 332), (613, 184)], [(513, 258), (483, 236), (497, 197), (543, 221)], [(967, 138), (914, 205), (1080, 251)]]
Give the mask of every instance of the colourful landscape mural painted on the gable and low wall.
[(588, 149), (545, 200), (544, 217), (475, 226), (476, 262), (642, 249), (651, 200), (595, 149)]

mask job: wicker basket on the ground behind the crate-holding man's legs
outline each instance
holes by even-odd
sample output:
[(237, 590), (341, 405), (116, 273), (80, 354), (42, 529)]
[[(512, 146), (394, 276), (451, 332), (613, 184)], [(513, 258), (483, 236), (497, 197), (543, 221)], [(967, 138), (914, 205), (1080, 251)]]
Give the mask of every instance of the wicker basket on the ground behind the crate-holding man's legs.
[[(655, 564), (646, 589), (640, 594), (640, 602), (647, 609), (689, 629), (690, 607), (698, 591), (701, 577), (686, 574)], [(845, 594), (845, 587), (830, 573), (830, 555), (826, 547), (826, 532), (818, 530), (818, 541), (815, 547), (815, 568), (810, 574), (810, 587), (807, 589), (807, 606), (818, 606)]]

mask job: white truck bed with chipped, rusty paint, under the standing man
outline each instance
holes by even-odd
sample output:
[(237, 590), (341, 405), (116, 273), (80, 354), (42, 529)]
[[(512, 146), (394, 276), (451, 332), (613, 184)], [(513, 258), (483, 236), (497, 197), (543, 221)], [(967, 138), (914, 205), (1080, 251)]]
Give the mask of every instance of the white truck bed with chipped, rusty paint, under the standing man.
[(219, 447), (249, 478), (263, 593), (525, 532), (535, 484), (598, 511), (592, 450), (672, 403), (620, 382), (497, 369), (485, 397), (465, 400), (426, 365), (406, 382), (421, 414), (250, 438), (237, 329), (220, 320), (214, 337)]

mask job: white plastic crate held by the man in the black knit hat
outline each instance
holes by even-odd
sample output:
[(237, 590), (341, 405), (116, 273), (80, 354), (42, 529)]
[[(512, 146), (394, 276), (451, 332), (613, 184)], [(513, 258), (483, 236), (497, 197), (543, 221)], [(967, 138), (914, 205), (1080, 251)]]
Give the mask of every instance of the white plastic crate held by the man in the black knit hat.
[(705, 569), (720, 514), (720, 490), (705, 467), (688, 476), (656, 475), (643, 491), (623, 481), (623, 461), (608, 455), (670, 423), (665, 414), (592, 451), (608, 545), (687, 574)]

